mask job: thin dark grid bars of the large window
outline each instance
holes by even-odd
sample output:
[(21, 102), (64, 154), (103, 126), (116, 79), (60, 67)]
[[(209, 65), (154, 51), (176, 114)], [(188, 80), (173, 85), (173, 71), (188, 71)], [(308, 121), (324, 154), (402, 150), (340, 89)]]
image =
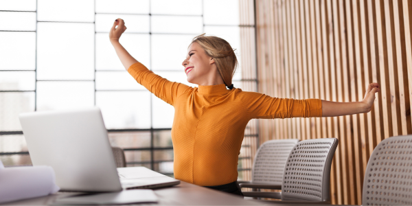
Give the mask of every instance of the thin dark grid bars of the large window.
[[(202, 14), (201, 15), (180, 15), (180, 14), (152, 14), (151, 13), (151, 1), (149, 1), (149, 13), (148, 14), (127, 14), (127, 15), (139, 15), (139, 16), (149, 16), (149, 32), (128, 32), (128, 34), (149, 34), (149, 58), (150, 58), (150, 65), (152, 65), (152, 34), (160, 34), (160, 35), (198, 35), (198, 34), (183, 34), (183, 33), (157, 33), (157, 32), (152, 32), (152, 25), (151, 25), (151, 21), (152, 21), (152, 16), (201, 16), (202, 17), (202, 33), (205, 32), (205, 27), (206, 26), (214, 26), (214, 27), (253, 27), (254, 32), (256, 34), (256, 26), (255, 25), (211, 25), (211, 24), (205, 24), (205, 19), (204, 19), (204, 0), (201, 1), (201, 6), (202, 6)], [(254, 3), (255, 4), (255, 3)], [(102, 12), (102, 13), (96, 13), (95, 11), (95, 1), (94, 1), (94, 14), (96, 16), (96, 14), (120, 14), (120, 13), (106, 13), (106, 12)], [(254, 9), (255, 10), (255, 9)], [(37, 111), (37, 82), (93, 82), (94, 85), (94, 105), (96, 105), (96, 93), (98, 91), (147, 91), (146, 89), (130, 89), (130, 90), (124, 90), (124, 89), (113, 89), (113, 90), (97, 90), (96, 89), (96, 73), (97, 72), (106, 72), (106, 71), (119, 71), (119, 72), (124, 72), (124, 70), (115, 70), (115, 69), (111, 69), (111, 70), (97, 70), (96, 69), (96, 38), (94, 38), (94, 48), (93, 48), (93, 53), (94, 53), (94, 73), (93, 73), (93, 80), (38, 80), (37, 78), (37, 49), (38, 49), (38, 43), (37, 43), (37, 30), (38, 30), (38, 23), (93, 23), (94, 25), (94, 29), (95, 29), (95, 36), (96, 34), (108, 34), (108, 32), (96, 32), (96, 24), (95, 21), (93, 22), (77, 22), (77, 21), (38, 21), (38, 1), (36, 0), (36, 11), (15, 11), (15, 10), (0, 10), (0, 12), (36, 12), (36, 30), (35, 31), (19, 31), (19, 30), (0, 30), (0, 32), (35, 32), (35, 38), (36, 38), (36, 43), (35, 43), (35, 47), (36, 47), (36, 52), (35, 52), (35, 67), (34, 70), (30, 70), (30, 69), (23, 69), (23, 70), (19, 70), (19, 69), (8, 69), (8, 70), (0, 70), (0, 73), (3, 71), (34, 71), (35, 73), (35, 85), (34, 85), (34, 90), (33, 91), (23, 91), (23, 90), (0, 90), (0, 93), (8, 93), (8, 92), (14, 92), (14, 93), (24, 93), (24, 92), (34, 92), (34, 111)], [(123, 14), (122, 15), (126, 15)], [(255, 14), (256, 16), (256, 14)], [(255, 18), (256, 19), (256, 18)], [(256, 41), (256, 37), (255, 37), (255, 41)], [(256, 50), (256, 45), (255, 45), (255, 50)], [(255, 55), (257, 56), (257, 53), (255, 52)], [(257, 58), (256, 58), (257, 59)], [(255, 62), (256, 64), (256, 68), (258, 62)], [(151, 71), (152, 68), (150, 68)], [(181, 72), (181, 70), (177, 70), (177, 69), (171, 69), (171, 70), (164, 70), (164, 69), (159, 69), (159, 70), (155, 70), (158, 72)], [(257, 69), (256, 69), (256, 73), (257, 73)], [(256, 75), (256, 77), (258, 77)], [(240, 79), (240, 80), (236, 80), (238, 82), (255, 82), (256, 84), (256, 88), (258, 88), (258, 79)], [(125, 129), (108, 129), (108, 133), (118, 133), (118, 132), (143, 132), (143, 131), (150, 131), (150, 147), (149, 148), (123, 148), (124, 151), (147, 151), (150, 150), (150, 161), (130, 161), (130, 162), (126, 162), (126, 165), (130, 165), (130, 164), (146, 164), (149, 163), (150, 164), (150, 169), (154, 169), (155, 167), (155, 163), (162, 163), (162, 162), (172, 162), (173, 160), (161, 160), (161, 161), (155, 161), (154, 160), (154, 153), (155, 150), (173, 150), (173, 147), (155, 147), (154, 146), (154, 133), (157, 131), (161, 131), (161, 130), (172, 130), (172, 128), (153, 128), (153, 113), (152, 113), (152, 95), (150, 95), (150, 128), (147, 129), (139, 129), (139, 128), (125, 128)], [(258, 121), (257, 121), (258, 124)], [(258, 126), (258, 125), (257, 125)], [(1, 135), (23, 135), (23, 131), (22, 130), (18, 130), (18, 131), (1, 131), (0, 130), (0, 136)], [(256, 141), (257, 141), (257, 145), (259, 145), (259, 134), (258, 132), (256, 134), (253, 135), (244, 135), (244, 137), (255, 137)], [(242, 145), (243, 147), (250, 147), (250, 145)], [(0, 152), (0, 157), (1, 156), (5, 156), (5, 155), (30, 155), (29, 152)], [(238, 159), (252, 159), (253, 157), (239, 157)], [(7, 166), (6, 166), (7, 167)], [(238, 172), (240, 171), (249, 171), (251, 170), (251, 168), (238, 168)], [(162, 172), (161, 172), (162, 173)], [(173, 174), (173, 173), (164, 173), (163, 174)]]

